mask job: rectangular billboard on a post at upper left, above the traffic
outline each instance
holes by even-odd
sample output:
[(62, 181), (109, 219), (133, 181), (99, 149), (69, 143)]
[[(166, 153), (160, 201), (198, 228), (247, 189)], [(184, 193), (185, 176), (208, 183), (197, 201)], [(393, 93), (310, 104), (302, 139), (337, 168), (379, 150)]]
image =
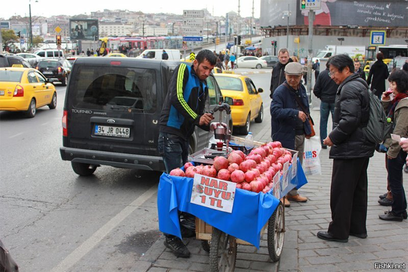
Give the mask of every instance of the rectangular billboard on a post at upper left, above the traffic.
[(94, 40), (98, 36), (98, 20), (69, 19), (69, 37), (71, 40)]

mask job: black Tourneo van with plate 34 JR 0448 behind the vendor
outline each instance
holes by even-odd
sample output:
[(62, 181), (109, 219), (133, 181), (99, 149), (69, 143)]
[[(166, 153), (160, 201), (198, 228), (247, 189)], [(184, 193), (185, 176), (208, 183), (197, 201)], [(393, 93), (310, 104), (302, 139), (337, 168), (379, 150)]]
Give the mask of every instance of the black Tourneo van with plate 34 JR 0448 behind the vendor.
[[(178, 64), (103, 57), (75, 61), (65, 96), (60, 148), (62, 159), (71, 161), (75, 173), (92, 175), (100, 165), (165, 171), (157, 149), (158, 122)], [(211, 111), (223, 98), (212, 75), (207, 84)], [(232, 121), (230, 125), (232, 128)], [(209, 132), (196, 128), (190, 152), (208, 146), (210, 137)]]

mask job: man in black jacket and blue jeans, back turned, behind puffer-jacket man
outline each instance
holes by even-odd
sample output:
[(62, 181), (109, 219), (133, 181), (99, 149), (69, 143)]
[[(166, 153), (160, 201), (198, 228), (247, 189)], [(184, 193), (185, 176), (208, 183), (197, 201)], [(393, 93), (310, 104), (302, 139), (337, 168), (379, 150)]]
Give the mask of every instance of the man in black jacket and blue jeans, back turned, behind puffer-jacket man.
[(327, 60), (326, 69), (319, 73), (319, 76), (316, 79), (315, 87), (313, 88), (313, 93), (321, 101), (320, 142), (322, 144), (322, 149), (327, 149), (327, 146), (323, 144), (323, 140), (327, 137), (327, 120), (329, 113), (331, 113), (331, 121), (333, 121), (336, 92), (337, 88), (339, 88), (339, 85), (337, 85), (336, 82), (331, 80), (328, 76), (330, 60), (331, 58)]

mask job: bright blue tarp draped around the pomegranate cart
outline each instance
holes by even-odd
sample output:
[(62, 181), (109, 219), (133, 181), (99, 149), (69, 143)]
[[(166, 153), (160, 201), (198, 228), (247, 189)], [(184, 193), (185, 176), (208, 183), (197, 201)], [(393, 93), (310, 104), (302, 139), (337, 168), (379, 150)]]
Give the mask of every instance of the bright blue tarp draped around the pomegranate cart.
[[(298, 165), (300, 166), (299, 161)], [(294, 187), (300, 188), (308, 182), (302, 167), (299, 166), (293, 178), (289, 175), (285, 188), (282, 187), (284, 183), (281, 177), (281, 196), (286, 195)], [(292, 165), (288, 172), (291, 172), (291, 169)], [(180, 210), (193, 214), (207, 224), (247, 241), (259, 249), (261, 230), (279, 204), (272, 190), (265, 194), (237, 189), (232, 213), (227, 213), (190, 203), (192, 187), (192, 178), (167, 174), (160, 177), (157, 196), (160, 231), (182, 238), (178, 216)]]

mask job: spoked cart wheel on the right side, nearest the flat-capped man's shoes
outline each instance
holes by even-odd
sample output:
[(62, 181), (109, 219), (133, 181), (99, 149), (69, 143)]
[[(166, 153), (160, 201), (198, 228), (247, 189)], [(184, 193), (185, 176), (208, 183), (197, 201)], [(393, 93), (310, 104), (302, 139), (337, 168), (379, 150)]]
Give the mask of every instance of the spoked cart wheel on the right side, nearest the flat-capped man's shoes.
[(285, 213), (282, 202), (276, 207), (268, 221), (268, 252), (273, 262), (281, 259), (285, 238)]

